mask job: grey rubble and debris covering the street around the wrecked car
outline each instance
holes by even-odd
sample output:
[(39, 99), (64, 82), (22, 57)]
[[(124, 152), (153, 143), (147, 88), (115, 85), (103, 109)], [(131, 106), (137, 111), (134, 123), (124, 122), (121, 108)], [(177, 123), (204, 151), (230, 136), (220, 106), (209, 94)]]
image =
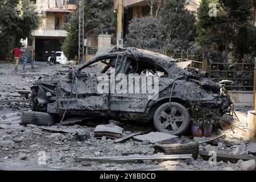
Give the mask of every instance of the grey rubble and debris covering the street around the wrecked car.
[[(56, 65), (57, 67), (58, 65)], [(76, 170), (133, 170), (133, 169), (168, 169), (168, 170), (217, 170), (222, 171), (225, 169), (233, 168), (234, 170), (242, 170), (241, 163), (251, 160), (255, 157), (255, 142), (241, 138), (239, 135), (234, 134), (232, 130), (226, 131), (226, 137), (218, 138), (208, 143), (201, 143), (200, 153), (204, 151), (204, 147), (210, 145), (217, 151), (217, 162), (212, 165), (209, 164), (208, 159), (201, 153), (197, 159), (191, 159), (191, 162), (180, 160), (146, 160), (141, 163), (134, 162), (108, 162), (99, 165), (98, 162), (73, 162), (72, 154), (79, 156), (152, 156), (155, 154), (154, 144), (148, 140), (138, 142), (132, 137), (134, 135), (141, 135), (148, 133), (145, 126), (137, 126), (133, 123), (121, 123), (118, 121), (110, 121), (111, 125), (118, 125), (122, 127), (123, 131), (121, 138), (109, 139), (107, 136), (102, 136), (99, 139), (94, 138), (94, 127), (101, 123), (101, 119), (93, 119), (86, 122), (77, 123), (77, 125), (54, 125), (54, 126), (37, 126), (28, 124), (27, 126), (20, 125), (20, 117), (22, 110), (30, 110), (28, 106), (29, 100), (23, 100), (18, 97), (8, 96), (5, 93), (18, 93), (19, 89), (30, 86), (32, 81), (49, 72), (53, 75), (53, 69), (46, 65), (38, 65), (39, 72), (18, 72), (11, 73), (8, 69), (1, 70), (6, 74), (0, 76), (0, 120), (1, 122), (11, 123), (0, 124), (0, 169), (25, 169), (25, 170), (61, 170), (61, 169), (76, 169)], [(52, 72), (52, 73), (51, 73)], [(22, 78), (22, 76), (24, 76)], [(8, 80), (8, 83), (6, 83)], [(27, 82), (28, 81), (28, 82)], [(10, 83), (10, 85), (9, 85)], [(15, 85), (15, 86), (14, 86)], [(22, 89), (24, 90), (24, 89)], [(27, 89), (26, 89), (27, 90)], [(30, 97), (30, 96), (29, 96)], [(13, 102), (13, 104), (11, 104)], [(22, 102), (20, 104), (19, 102)], [(23, 105), (26, 104), (26, 105)], [(9, 113), (15, 113), (13, 116)], [(7, 117), (6, 117), (7, 114)], [(12, 119), (12, 118), (16, 118)], [(239, 117), (239, 115), (238, 115)], [(6, 120), (7, 119), (7, 120)], [(8, 121), (9, 120), (9, 121)], [(90, 124), (89, 124), (90, 123)], [(131, 125), (132, 124), (132, 125)], [(88, 132), (86, 140), (77, 138), (78, 131)], [(52, 134), (57, 135), (57, 139), (49, 138)], [(232, 135), (231, 135), (232, 134)], [(215, 136), (216, 133), (213, 134)], [(216, 135), (217, 137), (217, 135)], [(213, 137), (214, 138), (214, 137)], [(179, 142), (192, 141), (192, 138), (179, 137)], [(194, 140), (204, 142), (210, 138), (194, 138)], [(6, 142), (8, 141), (8, 142)], [(3, 143), (2, 143), (3, 142)], [(218, 144), (219, 143), (219, 144)], [(3, 146), (2, 146), (3, 144)], [(7, 146), (6, 146), (7, 145)], [(238, 146), (247, 146), (249, 152), (237, 152), (237, 159), (233, 160), (233, 154), (236, 152)], [(46, 167), (39, 166), (38, 159), (46, 152), (47, 160)], [(241, 150), (243, 151), (243, 150)], [(247, 150), (245, 150), (247, 151)], [(209, 152), (205, 152), (209, 155)], [(229, 155), (228, 158), (220, 154)], [(27, 155), (27, 158), (20, 160), (20, 154)], [(161, 154), (160, 154), (161, 155)], [(163, 154), (162, 154), (163, 155)], [(210, 157), (210, 156), (209, 156)], [(25, 158), (25, 157), (24, 157)], [(226, 160), (225, 160), (226, 159)], [(230, 160), (231, 164), (228, 163)], [(13, 165), (11, 165), (13, 164)], [(16, 165), (17, 164), (17, 165)], [(22, 166), (26, 164), (26, 166)], [(57, 166), (57, 167), (56, 167)]]

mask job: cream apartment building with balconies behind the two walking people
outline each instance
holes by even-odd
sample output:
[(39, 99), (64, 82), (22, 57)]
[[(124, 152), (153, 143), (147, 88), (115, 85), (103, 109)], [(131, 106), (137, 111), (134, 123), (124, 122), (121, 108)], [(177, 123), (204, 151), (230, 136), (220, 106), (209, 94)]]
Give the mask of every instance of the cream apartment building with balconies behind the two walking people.
[(32, 0), (40, 17), (38, 30), (32, 32), (35, 60), (46, 61), (51, 51), (60, 51), (67, 36), (70, 13), (76, 10), (76, 0)]

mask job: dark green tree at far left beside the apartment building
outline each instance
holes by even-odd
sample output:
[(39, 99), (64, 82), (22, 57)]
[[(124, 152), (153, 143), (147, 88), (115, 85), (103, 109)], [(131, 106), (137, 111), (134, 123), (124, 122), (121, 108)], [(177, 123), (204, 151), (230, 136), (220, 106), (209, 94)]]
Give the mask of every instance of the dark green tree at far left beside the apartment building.
[(20, 39), (31, 37), (39, 17), (29, 0), (5, 0), (0, 4), (0, 60), (4, 60), (13, 46), (20, 46)]

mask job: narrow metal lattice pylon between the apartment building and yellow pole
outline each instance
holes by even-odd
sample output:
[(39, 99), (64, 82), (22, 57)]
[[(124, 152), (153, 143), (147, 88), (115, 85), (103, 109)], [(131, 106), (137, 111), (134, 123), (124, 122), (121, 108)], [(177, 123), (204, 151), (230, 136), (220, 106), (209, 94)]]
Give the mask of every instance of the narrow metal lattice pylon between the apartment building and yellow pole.
[(84, 1), (85, 0), (77, 0), (77, 6), (79, 10), (79, 64), (84, 63)]

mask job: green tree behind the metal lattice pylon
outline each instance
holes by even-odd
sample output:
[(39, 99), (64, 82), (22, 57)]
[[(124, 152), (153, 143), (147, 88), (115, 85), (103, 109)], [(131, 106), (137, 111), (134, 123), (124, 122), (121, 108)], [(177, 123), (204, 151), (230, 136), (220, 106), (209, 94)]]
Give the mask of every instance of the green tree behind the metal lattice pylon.
[[(108, 32), (115, 41), (115, 26), (117, 18), (113, 11), (114, 2), (111, 0), (88, 0), (84, 6), (85, 37), (96, 37), (99, 34)], [(68, 36), (65, 39), (62, 49), (69, 57), (74, 59), (78, 52), (79, 37), (79, 14), (74, 11), (68, 22)]]

